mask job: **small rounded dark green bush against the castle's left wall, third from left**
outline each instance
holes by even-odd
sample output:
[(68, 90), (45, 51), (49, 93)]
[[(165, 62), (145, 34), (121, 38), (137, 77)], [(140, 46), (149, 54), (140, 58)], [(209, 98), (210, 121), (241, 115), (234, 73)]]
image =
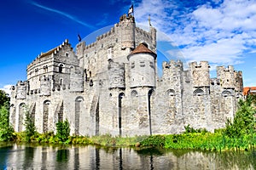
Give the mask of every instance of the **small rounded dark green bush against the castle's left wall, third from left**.
[(64, 122), (57, 122), (56, 127), (57, 127), (57, 133), (56, 133), (57, 139), (59, 139), (60, 142), (62, 143), (66, 142), (70, 133), (69, 123), (67, 122), (67, 120)]

